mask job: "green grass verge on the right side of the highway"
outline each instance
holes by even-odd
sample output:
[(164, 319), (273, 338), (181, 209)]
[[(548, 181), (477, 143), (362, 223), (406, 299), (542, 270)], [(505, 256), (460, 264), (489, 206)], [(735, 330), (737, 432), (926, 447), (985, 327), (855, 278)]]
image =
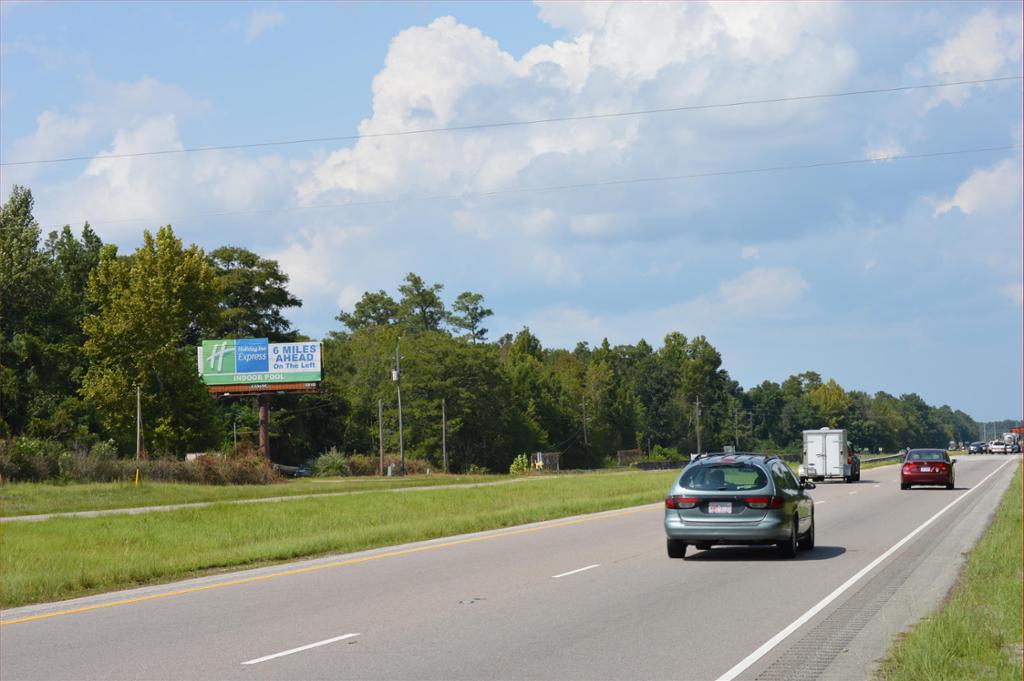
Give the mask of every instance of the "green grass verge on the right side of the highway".
[(945, 606), (890, 649), (885, 681), (1021, 679), (1021, 469)]

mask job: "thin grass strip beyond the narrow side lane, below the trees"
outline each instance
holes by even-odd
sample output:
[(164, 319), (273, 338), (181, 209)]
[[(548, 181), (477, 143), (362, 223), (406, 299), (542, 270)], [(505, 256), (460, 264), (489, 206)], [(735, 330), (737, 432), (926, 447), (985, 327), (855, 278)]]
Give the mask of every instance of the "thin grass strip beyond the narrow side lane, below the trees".
[(281, 484), (217, 485), (175, 482), (90, 482), (51, 484), (12, 482), (0, 487), (0, 516), (70, 513), (101, 509), (165, 506), (196, 502), (265, 499), (336, 492), (362, 492), (437, 484), (470, 484), (508, 479), (507, 475), (421, 475), (408, 477), (300, 478)]

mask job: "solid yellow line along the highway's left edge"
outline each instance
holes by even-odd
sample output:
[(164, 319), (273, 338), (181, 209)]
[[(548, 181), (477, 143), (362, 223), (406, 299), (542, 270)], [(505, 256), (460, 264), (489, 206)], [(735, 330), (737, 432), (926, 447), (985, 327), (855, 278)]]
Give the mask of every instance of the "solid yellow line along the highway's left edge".
[(348, 560), (339, 560), (333, 563), (325, 563), (323, 565), (310, 565), (308, 567), (298, 567), (296, 569), (285, 570), (283, 572), (272, 572), (270, 574), (258, 574), (256, 577), (246, 577), (240, 580), (230, 580), (228, 582), (218, 582), (217, 584), (208, 584), (202, 587), (189, 587), (187, 589), (178, 589), (176, 591), (167, 591), (160, 594), (151, 594), (148, 596), (138, 596), (136, 598), (125, 598), (123, 600), (111, 601), (109, 603), (97, 603), (95, 605), (86, 605), (84, 607), (76, 607), (70, 610), (58, 610), (56, 612), (47, 612), (44, 614), (33, 614), (28, 618), (19, 618), (17, 620), (6, 620), (0, 621), (0, 627), (6, 627), (8, 625), (17, 625), (25, 622), (35, 622), (37, 620), (49, 620), (50, 618), (59, 618), (66, 614), (76, 614), (78, 612), (88, 612), (89, 610), (100, 610), (108, 607), (116, 607), (118, 605), (128, 605), (130, 603), (141, 603), (143, 601), (157, 600), (160, 598), (170, 598), (172, 596), (182, 596), (184, 594), (193, 594), (200, 591), (209, 591), (211, 589), (221, 589), (223, 587), (234, 587), (241, 584), (251, 584), (253, 582), (263, 582), (265, 580), (273, 580), (280, 577), (290, 577), (292, 574), (302, 574), (304, 572), (316, 572), (322, 569), (329, 569), (331, 567), (344, 567), (346, 565), (356, 565), (358, 563), (370, 562), (371, 560), (381, 560), (383, 558), (394, 558), (396, 556), (404, 556), (411, 553), (422, 553), (424, 551), (434, 551), (437, 549), (444, 549), (451, 546), (459, 546), (462, 544), (473, 544), (475, 542), (483, 542), (485, 540), (500, 539), (502, 537), (512, 537), (514, 535), (526, 535), (528, 533), (536, 533), (542, 529), (552, 529), (555, 527), (566, 527), (568, 525), (577, 525), (583, 522), (590, 522), (591, 520), (601, 520), (604, 518), (617, 518), (624, 515), (632, 515), (634, 513), (640, 513), (649, 509), (651, 505), (641, 508), (631, 509), (629, 511), (620, 511), (618, 513), (605, 513), (598, 516), (589, 516), (586, 518), (578, 518), (575, 520), (567, 520), (564, 522), (556, 522), (547, 525), (541, 525), (539, 527), (525, 527), (523, 529), (513, 529), (509, 531), (499, 531), (493, 535), (484, 535), (482, 537), (470, 537), (468, 539), (460, 539), (454, 542), (444, 542), (443, 544), (431, 544), (429, 546), (420, 546), (413, 549), (402, 549), (401, 551), (389, 551), (388, 553), (378, 553), (372, 556), (362, 556), (361, 558), (350, 558)]

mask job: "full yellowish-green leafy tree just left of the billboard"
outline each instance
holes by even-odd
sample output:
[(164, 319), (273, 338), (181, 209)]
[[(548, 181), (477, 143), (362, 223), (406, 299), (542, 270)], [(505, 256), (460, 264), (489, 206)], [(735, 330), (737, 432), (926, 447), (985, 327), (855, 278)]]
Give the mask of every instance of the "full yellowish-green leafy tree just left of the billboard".
[(86, 317), (90, 360), (82, 394), (124, 449), (134, 433), (134, 388), (142, 390), (147, 441), (182, 453), (216, 440), (213, 400), (200, 381), (196, 345), (219, 323), (216, 272), (203, 251), (183, 248), (170, 225), (130, 258), (106, 247), (89, 281), (96, 313)]

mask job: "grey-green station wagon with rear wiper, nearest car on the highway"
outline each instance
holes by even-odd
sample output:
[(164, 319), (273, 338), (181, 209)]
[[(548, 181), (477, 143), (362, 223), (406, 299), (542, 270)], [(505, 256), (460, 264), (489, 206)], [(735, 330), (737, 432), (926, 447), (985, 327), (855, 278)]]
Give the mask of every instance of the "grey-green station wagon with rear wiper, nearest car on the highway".
[(670, 558), (689, 545), (774, 544), (792, 558), (814, 548), (814, 501), (790, 467), (765, 454), (712, 454), (691, 462), (665, 500)]

